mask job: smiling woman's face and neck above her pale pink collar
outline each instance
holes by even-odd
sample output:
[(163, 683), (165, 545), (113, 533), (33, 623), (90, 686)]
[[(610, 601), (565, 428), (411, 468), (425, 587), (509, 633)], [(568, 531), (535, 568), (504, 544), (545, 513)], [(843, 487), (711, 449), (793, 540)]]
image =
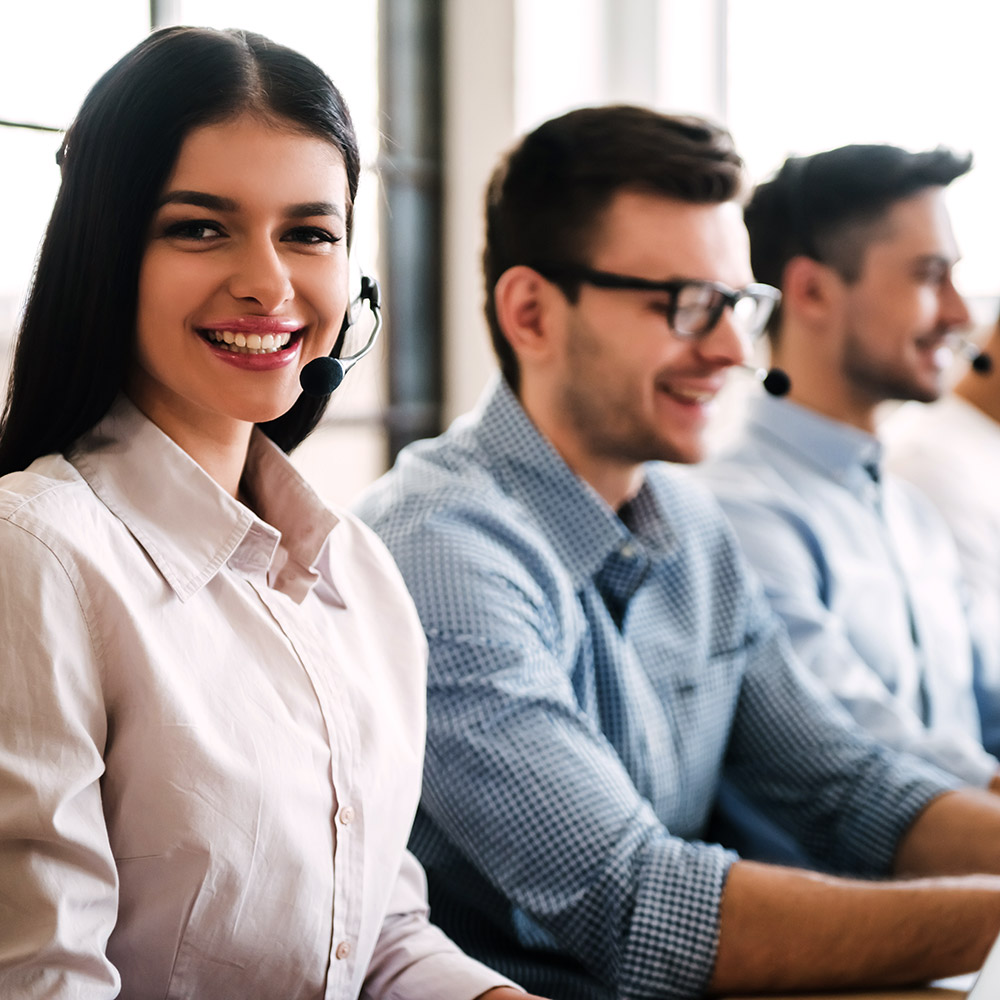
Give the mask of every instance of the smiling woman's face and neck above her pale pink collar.
[(159, 199), (128, 394), (234, 494), (253, 424), (288, 411), (336, 343), (350, 197), (335, 146), (244, 114), (192, 132)]

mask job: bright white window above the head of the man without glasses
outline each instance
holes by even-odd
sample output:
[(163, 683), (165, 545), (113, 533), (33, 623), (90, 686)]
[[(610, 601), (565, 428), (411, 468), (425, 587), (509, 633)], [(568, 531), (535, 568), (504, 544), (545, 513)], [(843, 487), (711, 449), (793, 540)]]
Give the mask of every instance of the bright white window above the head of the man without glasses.
[(730, 0), (728, 123), (756, 180), (790, 154), (847, 143), (971, 151), (972, 172), (948, 195), (956, 280), (992, 320), (998, 37), (1000, 6), (982, 0)]

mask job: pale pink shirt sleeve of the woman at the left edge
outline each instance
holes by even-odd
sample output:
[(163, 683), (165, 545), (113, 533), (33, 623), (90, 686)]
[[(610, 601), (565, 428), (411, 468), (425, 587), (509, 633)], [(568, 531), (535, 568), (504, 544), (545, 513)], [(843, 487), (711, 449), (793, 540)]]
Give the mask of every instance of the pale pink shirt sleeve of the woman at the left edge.
[(3, 520), (0, 636), (0, 995), (114, 997), (99, 658), (64, 567)]

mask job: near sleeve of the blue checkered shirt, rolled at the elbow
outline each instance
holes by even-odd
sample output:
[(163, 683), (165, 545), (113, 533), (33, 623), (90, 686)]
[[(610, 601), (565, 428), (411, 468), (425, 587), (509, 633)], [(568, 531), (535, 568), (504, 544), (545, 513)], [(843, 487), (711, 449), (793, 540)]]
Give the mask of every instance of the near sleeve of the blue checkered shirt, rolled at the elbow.
[(699, 995), (734, 856), (672, 836), (581, 707), (580, 611), (561, 573), (486, 510), (385, 535), (430, 645), (422, 809), (595, 979)]

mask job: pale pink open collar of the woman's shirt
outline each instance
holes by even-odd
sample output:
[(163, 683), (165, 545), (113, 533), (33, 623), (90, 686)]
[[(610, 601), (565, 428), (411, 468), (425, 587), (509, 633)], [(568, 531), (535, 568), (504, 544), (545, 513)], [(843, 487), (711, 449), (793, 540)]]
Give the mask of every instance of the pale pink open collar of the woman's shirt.
[(231, 497), (124, 396), (67, 458), (182, 601), (227, 563), (248, 574), (272, 570), (271, 585), (301, 601), (337, 523), (259, 430), (245, 478), (266, 520)]

